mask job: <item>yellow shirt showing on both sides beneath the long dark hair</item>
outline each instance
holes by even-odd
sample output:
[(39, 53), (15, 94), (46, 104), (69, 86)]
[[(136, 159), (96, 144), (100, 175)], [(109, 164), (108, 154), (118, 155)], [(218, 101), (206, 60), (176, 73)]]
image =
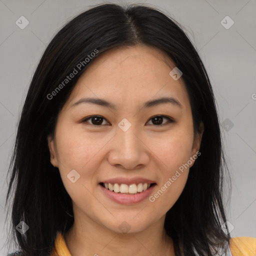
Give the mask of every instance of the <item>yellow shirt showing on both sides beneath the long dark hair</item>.
[[(256, 238), (232, 237), (230, 239), (232, 256), (256, 256)], [(55, 239), (55, 246), (50, 256), (71, 256), (66, 246), (63, 235), (59, 232)]]

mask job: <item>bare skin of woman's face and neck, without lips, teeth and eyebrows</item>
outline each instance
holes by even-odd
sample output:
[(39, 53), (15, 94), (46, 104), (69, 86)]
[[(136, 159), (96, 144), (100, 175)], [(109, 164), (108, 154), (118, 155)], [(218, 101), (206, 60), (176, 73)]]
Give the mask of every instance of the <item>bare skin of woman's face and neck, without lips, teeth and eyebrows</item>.
[[(115, 47), (93, 60), (59, 112), (48, 146), (54, 156), (50, 161), (59, 168), (72, 199), (74, 224), (64, 234), (72, 256), (175, 255), (163, 223), (185, 186), (189, 168), (154, 202), (147, 198), (119, 204), (98, 185), (107, 178), (142, 176), (157, 183), (153, 195), (199, 150), (203, 127), (194, 135), (188, 94), (182, 76), (174, 80), (169, 75), (173, 67), (157, 48), (143, 44)], [(117, 109), (89, 103), (71, 107), (87, 96), (104, 98)], [(175, 97), (182, 107), (165, 103), (142, 108), (145, 101), (161, 96)], [(92, 119), (82, 122), (90, 115), (104, 119), (99, 125)], [(163, 118), (159, 126), (152, 120), (155, 115), (169, 116), (175, 122)], [(123, 118), (131, 123), (127, 131), (118, 127)], [(72, 169), (80, 175), (74, 183), (66, 177)], [(130, 226), (127, 233), (118, 228), (123, 221)]]

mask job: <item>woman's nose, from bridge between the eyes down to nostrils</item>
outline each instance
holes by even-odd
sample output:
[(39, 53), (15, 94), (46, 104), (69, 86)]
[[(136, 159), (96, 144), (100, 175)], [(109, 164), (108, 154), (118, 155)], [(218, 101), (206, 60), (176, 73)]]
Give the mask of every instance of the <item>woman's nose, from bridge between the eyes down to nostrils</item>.
[(117, 127), (116, 134), (111, 140), (108, 162), (125, 169), (147, 165), (150, 150), (146, 144), (145, 136), (136, 129), (135, 125), (131, 125), (126, 131)]

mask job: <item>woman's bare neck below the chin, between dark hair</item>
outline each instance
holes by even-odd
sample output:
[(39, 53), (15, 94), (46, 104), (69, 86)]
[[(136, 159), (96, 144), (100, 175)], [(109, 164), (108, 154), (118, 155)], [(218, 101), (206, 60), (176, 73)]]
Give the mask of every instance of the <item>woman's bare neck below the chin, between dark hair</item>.
[(164, 217), (135, 233), (117, 233), (89, 218), (79, 223), (74, 220), (64, 239), (72, 256), (174, 256), (172, 239), (163, 227)]

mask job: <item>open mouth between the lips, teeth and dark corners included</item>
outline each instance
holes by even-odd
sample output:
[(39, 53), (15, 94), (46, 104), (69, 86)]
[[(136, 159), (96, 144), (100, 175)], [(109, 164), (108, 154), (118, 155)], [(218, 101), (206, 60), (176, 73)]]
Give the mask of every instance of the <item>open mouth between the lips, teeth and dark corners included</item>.
[[(150, 181), (149, 181), (150, 182)], [(139, 194), (150, 187), (156, 185), (155, 182), (152, 183), (108, 183), (108, 182), (100, 182), (99, 185), (103, 186), (104, 188), (115, 192), (117, 194)]]

